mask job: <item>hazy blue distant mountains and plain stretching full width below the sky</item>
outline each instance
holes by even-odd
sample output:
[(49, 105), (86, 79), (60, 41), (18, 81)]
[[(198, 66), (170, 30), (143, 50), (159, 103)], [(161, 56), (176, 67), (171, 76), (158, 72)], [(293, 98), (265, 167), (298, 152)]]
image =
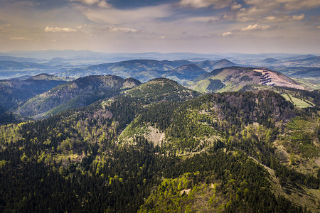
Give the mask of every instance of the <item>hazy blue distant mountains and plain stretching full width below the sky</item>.
[[(198, 65), (206, 72), (231, 66), (268, 67), (271, 70), (279, 70), (281, 72), (281, 69), (277, 67), (320, 67), (319, 58), (320, 56), (318, 55), (284, 53), (198, 54), (96, 53), (87, 50), (14, 51), (0, 53), (0, 79), (21, 77), (23, 75), (38, 75), (46, 72), (52, 75), (72, 75), (73, 77), (119, 75), (120, 77), (134, 77), (142, 82), (156, 77), (169, 77), (184, 84), (186, 81), (191, 80), (194, 75), (189, 77), (182, 76), (175, 72), (174, 69), (191, 63)], [(137, 62), (138, 64), (134, 65), (131, 62)], [(161, 62), (163, 65), (161, 65)], [(112, 64), (114, 67), (110, 67)], [(139, 71), (140, 75), (137, 73), (132, 75), (134, 70)], [(199, 70), (199, 72), (203, 70)], [(304, 70), (307, 70), (307, 68), (304, 68)], [(297, 77), (304, 78), (304, 75), (298, 75)]]

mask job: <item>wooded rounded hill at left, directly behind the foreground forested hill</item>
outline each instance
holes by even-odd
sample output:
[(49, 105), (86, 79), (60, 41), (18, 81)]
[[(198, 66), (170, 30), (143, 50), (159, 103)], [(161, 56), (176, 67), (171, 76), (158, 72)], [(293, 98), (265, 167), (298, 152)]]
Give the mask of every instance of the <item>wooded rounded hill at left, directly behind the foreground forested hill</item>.
[[(77, 98), (80, 102), (72, 102), (73, 104), (69, 102), (68, 107), (61, 107), (61, 110), (84, 107), (97, 101), (104, 94), (117, 94), (121, 89), (129, 89), (139, 84), (140, 82), (133, 78), (123, 79), (114, 75), (80, 77), (29, 99), (17, 112), (23, 116), (36, 116), (65, 104), (73, 98)], [(114, 92), (108, 92), (110, 90)], [(87, 92), (91, 93), (87, 94)], [(59, 111), (55, 110), (55, 113)]]

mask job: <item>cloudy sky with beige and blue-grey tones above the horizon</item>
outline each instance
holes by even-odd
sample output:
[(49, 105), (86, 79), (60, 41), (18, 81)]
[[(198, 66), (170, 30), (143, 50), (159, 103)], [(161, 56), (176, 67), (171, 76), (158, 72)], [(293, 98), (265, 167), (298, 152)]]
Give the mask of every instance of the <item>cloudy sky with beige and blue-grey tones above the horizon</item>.
[(320, 53), (320, 0), (0, 0), (0, 51)]

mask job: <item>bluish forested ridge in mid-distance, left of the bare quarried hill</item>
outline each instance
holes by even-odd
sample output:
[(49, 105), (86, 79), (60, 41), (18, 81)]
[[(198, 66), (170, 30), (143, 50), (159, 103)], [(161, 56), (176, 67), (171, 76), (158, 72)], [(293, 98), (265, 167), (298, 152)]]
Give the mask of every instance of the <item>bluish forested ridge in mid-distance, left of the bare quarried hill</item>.
[(223, 59), (218, 61), (191, 62), (188, 60), (129, 60), (122, 62), (80, 67), (58, 73), (59, 76), (84, 77), (87, 75), (119, 75), (134, 77), (146, 82), (157, 77), (168, 77), (179, 83), (186, 83), (201, 74), (235, 63)]

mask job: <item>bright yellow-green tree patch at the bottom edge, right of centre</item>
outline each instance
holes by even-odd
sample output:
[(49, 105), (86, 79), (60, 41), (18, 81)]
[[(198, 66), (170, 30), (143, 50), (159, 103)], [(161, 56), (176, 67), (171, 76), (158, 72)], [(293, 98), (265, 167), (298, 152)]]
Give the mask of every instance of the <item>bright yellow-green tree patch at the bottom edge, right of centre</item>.
[(218, 183), (194, 184), (193, 178), (198, 175), (185, 173), (178, 178), (165, 178), (138, 212), (222, 212), (227, 201), (217, 194)]

